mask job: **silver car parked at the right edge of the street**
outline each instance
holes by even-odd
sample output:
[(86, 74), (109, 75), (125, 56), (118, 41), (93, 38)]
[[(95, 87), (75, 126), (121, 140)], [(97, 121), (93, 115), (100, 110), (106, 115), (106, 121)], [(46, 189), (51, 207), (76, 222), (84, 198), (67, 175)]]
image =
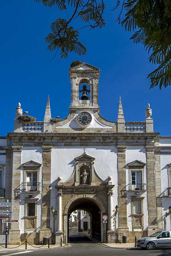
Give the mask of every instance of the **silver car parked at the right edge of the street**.
[(139, 238), (136, 247), (153, 250), (154, 248), (171, 248), (171, 231), (157, 231), (151, 236)]

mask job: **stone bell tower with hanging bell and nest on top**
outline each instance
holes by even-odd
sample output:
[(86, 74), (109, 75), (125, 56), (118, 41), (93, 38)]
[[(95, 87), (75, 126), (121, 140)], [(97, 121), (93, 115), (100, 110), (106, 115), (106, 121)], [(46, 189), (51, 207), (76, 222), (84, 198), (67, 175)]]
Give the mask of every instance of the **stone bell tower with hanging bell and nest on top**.
[(80, 109), (99, 110), (98, 82), (99, 68), (74, 61), (70, 67), (71, 106), (70, 111)]

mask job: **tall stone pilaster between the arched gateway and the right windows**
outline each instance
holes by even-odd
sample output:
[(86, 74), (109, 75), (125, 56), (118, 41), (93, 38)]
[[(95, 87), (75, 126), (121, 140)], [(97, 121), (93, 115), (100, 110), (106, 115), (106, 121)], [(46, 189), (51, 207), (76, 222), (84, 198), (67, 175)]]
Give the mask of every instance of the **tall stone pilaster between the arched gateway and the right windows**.
[(118, 232), (128, 231), (127, 227), (127, 192), (126, 192), (126, 146), (117, 146), (118, 166), (118, 202), (119, 202), (119, 226)]

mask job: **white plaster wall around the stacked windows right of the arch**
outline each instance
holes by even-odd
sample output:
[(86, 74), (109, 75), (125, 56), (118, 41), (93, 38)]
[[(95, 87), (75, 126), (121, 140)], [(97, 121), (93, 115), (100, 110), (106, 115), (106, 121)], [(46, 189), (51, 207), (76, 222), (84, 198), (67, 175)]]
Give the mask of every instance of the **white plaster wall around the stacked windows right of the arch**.
[[(144, 146), (129, 146), (126, 150), (126, 164), (133, 162), (135, 160), (139, 160), (143, 163), (146, 163), (146, 152)], [(128, 167), (126, 167), (126, 184), (131, 183), (129, 181), (129, 172)], [(144, 183), (147, 184), (147, 170), (145, 166), (144, 172)], [(127, 186), (127, 190), (129, 190), (129, 186)], [(132, 218), (131, 218), (131, 198), (130, 196), (135, 196), (135, 192), (127, 191), (127, 226), (129, 231), (132, 231)], [(144, 230), (148, 226), (148, 212), (147, 212), (147, 192), (140, 192), (139, 196), (145, 196), (143, 199), (143, 213), (144, 213)]]

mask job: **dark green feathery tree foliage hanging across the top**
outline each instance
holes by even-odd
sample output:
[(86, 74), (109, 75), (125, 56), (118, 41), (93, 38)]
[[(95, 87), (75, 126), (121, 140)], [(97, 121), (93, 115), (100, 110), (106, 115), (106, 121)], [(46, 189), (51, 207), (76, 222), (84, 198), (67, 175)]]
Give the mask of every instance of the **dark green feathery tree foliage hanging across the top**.
[[(41, 1), (48, 7), (57, 6), (60, 11), (73, 8), (68, 20), (58, 18), (52, 22), (52, 33), (45, 38), (48, 49), (56, 50), (56, 53), (60, 49), (62, 58), (67, 58), (72, 51), (85, 54), (86, 48), (79, 42), (79, 29), (70, 26), (70, 23), (78, 18), (85, 22), (82, 28), (102, 28), (107, 0), (35, 0)], [(158, 65), (147, 76), (150, 88), (159, 86), (161, 89), (171, 85), (171, 0), (116, 0), (116, 6), (111, 11), (116, 9), (119, 9), (117, 21), (125, 30), (134, 31), (131, 36), (133, 42), (143, 44), (149, 52), (149, 62)]]

